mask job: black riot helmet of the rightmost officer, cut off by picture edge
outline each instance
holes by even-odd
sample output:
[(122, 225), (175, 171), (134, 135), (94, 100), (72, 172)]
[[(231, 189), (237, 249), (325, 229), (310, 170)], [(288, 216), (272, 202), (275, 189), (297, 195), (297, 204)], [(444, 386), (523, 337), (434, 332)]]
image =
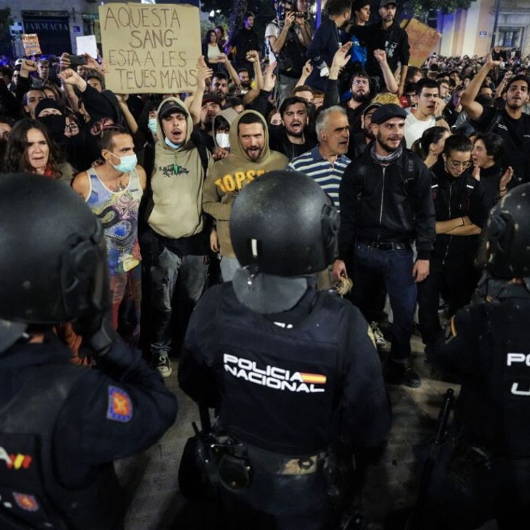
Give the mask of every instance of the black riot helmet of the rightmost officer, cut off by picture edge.
[(530, 277), (530, 184), (496, 204), (484, 229), (482, 266), (500, 278)]

